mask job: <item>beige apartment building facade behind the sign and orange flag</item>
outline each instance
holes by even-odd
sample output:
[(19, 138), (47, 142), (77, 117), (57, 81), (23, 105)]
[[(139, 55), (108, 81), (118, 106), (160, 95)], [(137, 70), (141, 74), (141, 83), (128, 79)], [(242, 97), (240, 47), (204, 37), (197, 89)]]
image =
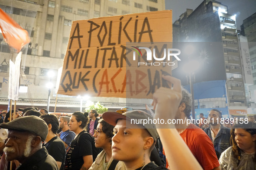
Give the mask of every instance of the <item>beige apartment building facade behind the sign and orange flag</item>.
[[(162, 0), (1, 0), (0, 8), (29, 32), (30, 43), (23, 48), (18, 106), (46, 107), (50, 78), (55, 84), (58, 69), (63, 64), (72, 21), (102, 16), (143, 13), (165, 9)], [(16, 50), (10, 48), (0, 34), (0, 110), (7, 109), (9, 60), (15, 60)], [(55, 85), (54, 85), (55, 86)], [(50, 111), (55, 106), (55, 87), (51, 90)], [(125, 98), (91, 98), (110, 108), (126, 104)], [(84, 101), (85, 102), (85, 101)], [(140, 104), (141, 103), (141, 104)], [(136, 101), (136, 108), (148, 103)], [(76, 96), (58, 95), (57, 111), (72, 112), (80, 107)]]

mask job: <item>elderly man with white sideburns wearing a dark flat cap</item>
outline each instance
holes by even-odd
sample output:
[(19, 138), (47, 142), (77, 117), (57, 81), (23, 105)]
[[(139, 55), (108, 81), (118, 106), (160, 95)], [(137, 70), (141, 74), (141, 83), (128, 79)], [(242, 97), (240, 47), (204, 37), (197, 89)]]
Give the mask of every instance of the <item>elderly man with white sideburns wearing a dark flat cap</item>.
[(48, 133), (44, 120), (25, 116), (0, 124), (0, 127), (8, 129), (8, 141), (3, 151), (7, 161), (19, 161), (16, 170), (58, 170), (54, 158), (45, 147), (42, 148)]

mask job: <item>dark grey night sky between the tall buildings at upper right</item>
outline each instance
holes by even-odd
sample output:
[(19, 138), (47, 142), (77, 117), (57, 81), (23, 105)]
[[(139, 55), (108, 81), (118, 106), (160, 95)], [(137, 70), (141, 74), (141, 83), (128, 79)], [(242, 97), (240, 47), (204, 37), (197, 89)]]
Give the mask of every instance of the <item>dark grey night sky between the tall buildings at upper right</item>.
[[(217, 0), (227, 6), (228, 13), (236, 14), (237, 29), (243, 20), (256, 13), (256, 0)], [(203, 0), (165, 0), (165, 9), (172, 9), (172, 20), (175, 22), (186, 9), (196, 9)]]

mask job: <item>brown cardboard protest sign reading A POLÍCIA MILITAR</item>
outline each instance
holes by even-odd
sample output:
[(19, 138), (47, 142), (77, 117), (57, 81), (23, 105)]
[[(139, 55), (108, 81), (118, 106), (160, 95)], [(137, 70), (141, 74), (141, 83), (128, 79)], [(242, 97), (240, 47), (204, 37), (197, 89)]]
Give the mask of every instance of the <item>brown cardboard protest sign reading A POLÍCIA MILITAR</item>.
[[(156, 53), (162, 51), (159, 55), (166, 52), (165, 60), (168, 58), (170, 62), (172, 59), (167, 56), (171, 52), (162, 48), (167, 46), (161, 44), (157, 48), (153, 42), (171, 41), (170, 10), (74, 21), (58, 94), (126, 98), (130, 91), (132, 98), (152, 98), (152, 88), (162, 86), (162, 72), (170, 74), (171, 68), (167, 64), (161, 66), (161, 71), (155, 65), (139, 66), (139, 60), (144, 60), (144, 63), (158, 62), (153, 50), (153, 60), (147, 61), (150, 56), (145, 48), (139, 49), (143, 47), (140, 42), (150, 42), (149, 48), (156, 48)], [(126, 47), (126, 42), (136, 44)], [(152, 86), (154, 83), (155, 86)], [(151, 89), (149, 86), (152, 86)]]

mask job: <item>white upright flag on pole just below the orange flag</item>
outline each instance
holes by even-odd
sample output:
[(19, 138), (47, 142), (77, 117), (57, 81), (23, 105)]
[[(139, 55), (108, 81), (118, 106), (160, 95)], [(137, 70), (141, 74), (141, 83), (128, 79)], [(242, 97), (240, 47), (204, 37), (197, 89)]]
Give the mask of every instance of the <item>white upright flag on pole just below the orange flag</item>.
[(22, 52), (19, 52), (19, 54), (17, 55), (15, 63), (10, 60), (8, 98), (14, 101), (17, 101), (19, 99), (19, 74), (21, 53)]

